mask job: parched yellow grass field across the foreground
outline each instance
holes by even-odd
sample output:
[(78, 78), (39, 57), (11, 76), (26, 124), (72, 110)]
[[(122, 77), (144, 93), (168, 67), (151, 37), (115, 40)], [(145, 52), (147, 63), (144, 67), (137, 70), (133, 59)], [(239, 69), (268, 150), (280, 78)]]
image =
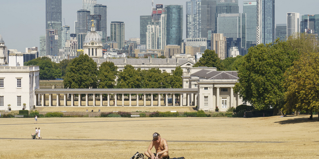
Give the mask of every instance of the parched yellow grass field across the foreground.
[[(130, 159), (154, 132), (185, 159), (319, 159), (317, 117), (0, 118), (0, 159)], [(42, 140), (31, 140), (40, 127)]]

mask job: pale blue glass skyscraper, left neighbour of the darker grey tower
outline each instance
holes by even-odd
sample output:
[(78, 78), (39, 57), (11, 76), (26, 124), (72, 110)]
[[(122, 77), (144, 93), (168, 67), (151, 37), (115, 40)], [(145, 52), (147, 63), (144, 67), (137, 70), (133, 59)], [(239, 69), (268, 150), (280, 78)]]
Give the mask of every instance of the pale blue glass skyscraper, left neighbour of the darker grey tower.
[(201, 37), (201, 0), (186, 1), (186, 38)]

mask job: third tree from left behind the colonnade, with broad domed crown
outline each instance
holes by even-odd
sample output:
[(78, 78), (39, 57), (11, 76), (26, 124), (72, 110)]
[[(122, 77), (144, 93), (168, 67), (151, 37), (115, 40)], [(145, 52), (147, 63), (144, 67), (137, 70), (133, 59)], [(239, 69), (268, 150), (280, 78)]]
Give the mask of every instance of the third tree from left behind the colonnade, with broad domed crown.
[(135, 70), (132, 65), (126, 65), (119, 73), (118, 88), (141, 88), (140, 70)]

